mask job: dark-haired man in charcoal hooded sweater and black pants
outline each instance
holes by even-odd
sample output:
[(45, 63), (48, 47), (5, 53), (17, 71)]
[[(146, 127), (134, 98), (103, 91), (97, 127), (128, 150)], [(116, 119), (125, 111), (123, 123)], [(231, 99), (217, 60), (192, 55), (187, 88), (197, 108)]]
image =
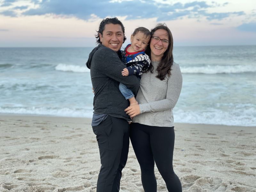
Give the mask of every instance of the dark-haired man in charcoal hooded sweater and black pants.
[(101, 21), (97, 38), (99, 45), (92, 50), (86, 66), (91, 69), (94, 89), (92, 129), (100, 149), (100, 173), (97, 192), (118, 192), (122, 169), (129, 150), (130, 117), (124, 112), (129, 101), (119, 91), (123, 83), (136, 95), (139, 80), (122, 76), (124, 64), (120, 48), (126, 37), (124, 26), (117, 18)]

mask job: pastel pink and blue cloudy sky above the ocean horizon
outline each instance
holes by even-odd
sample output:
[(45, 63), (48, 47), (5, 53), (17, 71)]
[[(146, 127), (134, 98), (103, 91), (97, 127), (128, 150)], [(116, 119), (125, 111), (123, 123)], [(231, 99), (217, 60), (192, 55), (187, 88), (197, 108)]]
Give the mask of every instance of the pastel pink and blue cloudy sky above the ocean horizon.
[(0, 47), (94, 47), (103, 18), (130, 36), (165, 23), (176, 46), (256, 45), (255, 0), (0, 0)]

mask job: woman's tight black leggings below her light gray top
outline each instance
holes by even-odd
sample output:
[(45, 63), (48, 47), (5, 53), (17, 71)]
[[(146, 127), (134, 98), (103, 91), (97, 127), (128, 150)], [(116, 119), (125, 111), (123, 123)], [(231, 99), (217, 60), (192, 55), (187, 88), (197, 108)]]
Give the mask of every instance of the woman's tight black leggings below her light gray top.
[(145, 192), (156, 192), (154, 160), (169, 192), (181, 192), (181, 183), (172, 167), (174, 127), (130, 125), (130, 139), (141, 169)]

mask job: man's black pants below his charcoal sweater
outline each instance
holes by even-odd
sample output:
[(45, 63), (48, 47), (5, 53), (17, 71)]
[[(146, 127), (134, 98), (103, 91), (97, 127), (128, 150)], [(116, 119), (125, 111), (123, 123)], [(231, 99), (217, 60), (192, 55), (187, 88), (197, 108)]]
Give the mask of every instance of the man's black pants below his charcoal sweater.
[(100, 149), (97, 192), (118, 192), (129, 151), (129, 124), (122, 118), (108, 116), (92, 129)]

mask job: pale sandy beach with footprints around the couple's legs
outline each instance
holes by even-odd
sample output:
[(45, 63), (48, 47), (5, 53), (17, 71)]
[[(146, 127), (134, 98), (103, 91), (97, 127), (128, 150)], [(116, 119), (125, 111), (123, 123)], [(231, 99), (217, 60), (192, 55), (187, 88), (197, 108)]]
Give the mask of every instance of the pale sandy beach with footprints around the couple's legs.
[[(256, 127), (175, 124), (173, 166), (184, 192), (256, 192)], [(95, 192), (91, 119), (0, 116), (1, 192)], [(157, 188), (166, 192), (155, 168)], [(143, 192), (130, 143), (121, 192)]]

